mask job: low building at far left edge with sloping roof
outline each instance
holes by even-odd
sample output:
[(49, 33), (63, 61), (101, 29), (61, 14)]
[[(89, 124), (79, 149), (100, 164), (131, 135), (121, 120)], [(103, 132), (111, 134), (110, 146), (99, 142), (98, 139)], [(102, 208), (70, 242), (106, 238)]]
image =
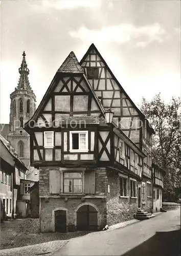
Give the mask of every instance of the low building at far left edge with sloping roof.
[(16, 216), (17, 190), (20, 187), (20, 175), (26, 173), (26, 166), (17, 158), (17, 153), (9, 142), (0, 135), (1, 161), (0, 161), (0, 197), (1, 220)]

